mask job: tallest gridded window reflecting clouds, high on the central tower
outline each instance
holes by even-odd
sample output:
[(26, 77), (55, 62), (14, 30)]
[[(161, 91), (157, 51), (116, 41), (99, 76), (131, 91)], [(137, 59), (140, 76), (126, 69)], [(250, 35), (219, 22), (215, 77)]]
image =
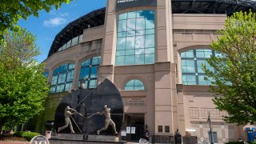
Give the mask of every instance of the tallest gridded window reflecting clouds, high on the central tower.
[(119, 14), (115, 65), (153, 64), (154, 41), (154, 10)]

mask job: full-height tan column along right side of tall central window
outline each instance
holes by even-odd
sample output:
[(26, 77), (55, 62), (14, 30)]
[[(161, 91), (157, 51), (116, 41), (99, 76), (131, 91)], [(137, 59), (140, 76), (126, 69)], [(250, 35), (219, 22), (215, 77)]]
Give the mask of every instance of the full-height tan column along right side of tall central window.
[[(171, 1), (158, 1), (156, 12), (155, 134), (174, 134), (178, 127), (176, 64), (174, 64)], [(161, 118), (161, 119), (159, 119)], [(158, 133), (162, 126), (162, 133)], [(165, 126), (170, 127), (166, 133)]]

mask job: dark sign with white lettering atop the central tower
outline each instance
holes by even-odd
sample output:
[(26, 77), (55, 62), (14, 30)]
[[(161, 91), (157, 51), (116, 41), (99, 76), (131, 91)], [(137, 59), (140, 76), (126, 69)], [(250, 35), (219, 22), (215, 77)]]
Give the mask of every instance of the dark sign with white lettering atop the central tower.
[(157, 0), (116, 0), (115, 10), (138, 6), (157, 6)]

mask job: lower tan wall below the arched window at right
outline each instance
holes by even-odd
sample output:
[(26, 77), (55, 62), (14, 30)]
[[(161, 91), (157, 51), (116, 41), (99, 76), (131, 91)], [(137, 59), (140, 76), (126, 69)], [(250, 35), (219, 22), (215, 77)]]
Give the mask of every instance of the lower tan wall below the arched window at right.
[(212, 130), (218, 134), (218, 143), (237, 141), (240, 137), (246, 138), (241, 133), (241, 127), (222, 120), (222, 115), (227, 115), (227, 113), (216, 109), (212, 101), (214, 95), (209, 92), (209, 86), (182, 86), (180, 90), (183, 93), (185, 128), (195, 130), (190, 131), (190, 134), (197, 136), (198, 142), (209, 141), (208, 112), (210, 112)]

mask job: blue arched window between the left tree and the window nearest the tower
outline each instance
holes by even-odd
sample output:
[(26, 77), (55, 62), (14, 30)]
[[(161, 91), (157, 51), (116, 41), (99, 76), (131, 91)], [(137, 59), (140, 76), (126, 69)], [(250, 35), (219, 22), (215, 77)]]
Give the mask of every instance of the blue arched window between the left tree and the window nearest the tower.
[(50, 93), (58, 93), (71, 89), (74, 78), (74, 64), (68, 63), (54, 70), (51, 79)]

